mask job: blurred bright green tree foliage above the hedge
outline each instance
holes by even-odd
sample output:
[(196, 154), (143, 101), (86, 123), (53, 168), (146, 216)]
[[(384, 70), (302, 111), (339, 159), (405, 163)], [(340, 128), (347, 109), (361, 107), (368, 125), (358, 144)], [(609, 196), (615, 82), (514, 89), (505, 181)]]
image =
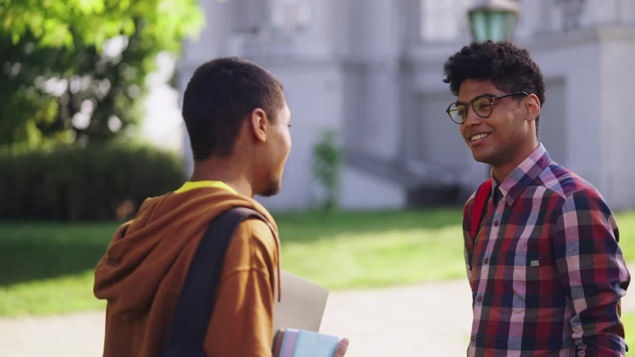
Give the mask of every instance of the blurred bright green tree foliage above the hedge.
[(196, 0), (0, 0), (0, 147), (107, 142), (145, 75), (203, 24)]

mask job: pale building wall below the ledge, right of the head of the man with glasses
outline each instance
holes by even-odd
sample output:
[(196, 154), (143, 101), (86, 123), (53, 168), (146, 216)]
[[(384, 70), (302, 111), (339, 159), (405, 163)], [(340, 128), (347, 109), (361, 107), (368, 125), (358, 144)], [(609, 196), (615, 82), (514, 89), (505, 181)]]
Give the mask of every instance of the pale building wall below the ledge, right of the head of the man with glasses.
[[(583, 30), (537, 37), (527, 46), (547, 78), (540, 126), (555, 126), (558, 131), (541, 130), (547, 150), (552, 145), (553, 158), (596, 186), (613, 210), (632, 208), (635, 159), (630, 155), (635, 152), (635, 121), (630, 119), (630, 104), (635, 30)], [(565, 118), (564, 123), (559, 123), (558, 116)]]

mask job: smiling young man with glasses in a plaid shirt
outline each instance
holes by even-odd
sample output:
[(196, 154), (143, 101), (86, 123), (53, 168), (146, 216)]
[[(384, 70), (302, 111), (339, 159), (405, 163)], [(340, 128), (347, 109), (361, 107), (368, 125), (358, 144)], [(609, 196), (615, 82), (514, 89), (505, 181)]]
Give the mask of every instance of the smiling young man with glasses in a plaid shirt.
[(528, 51), (491, 41), (465, 46), (444, 69), (458, 97), (446, 112), (474, 159), (491, 165), (463, 213), (467, 355), (624, 356), (630, 275), (617, 223), (599, 192), (538, 142), (540, 69)]

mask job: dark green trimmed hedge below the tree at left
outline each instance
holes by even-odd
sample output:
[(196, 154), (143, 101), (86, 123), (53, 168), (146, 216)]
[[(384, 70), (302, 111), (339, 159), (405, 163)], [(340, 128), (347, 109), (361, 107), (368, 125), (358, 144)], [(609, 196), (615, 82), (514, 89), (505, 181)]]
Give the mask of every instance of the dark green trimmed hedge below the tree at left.
[(0, 154), (0, 220), (103, 220), (133, 215), (184, 180), (182, 161), (150, 147), (63, 147)]

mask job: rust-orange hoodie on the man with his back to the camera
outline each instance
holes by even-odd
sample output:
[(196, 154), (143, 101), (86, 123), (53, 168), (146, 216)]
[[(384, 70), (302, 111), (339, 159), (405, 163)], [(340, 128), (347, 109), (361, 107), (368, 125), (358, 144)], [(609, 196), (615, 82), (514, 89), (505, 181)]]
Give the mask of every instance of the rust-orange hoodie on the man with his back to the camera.
[(271, 356), (277, 226), (257, 201), (216, 186), (146, 199), (137, 217), (115, 232), (95, 269), (95, 296), (108, 300), (104, 356), (163, 351), (199, 241), (214, 217), (235, 206), (252, 208), (269, 222), (246, 220), (234, 231), (204, 349), (208, 356)]

